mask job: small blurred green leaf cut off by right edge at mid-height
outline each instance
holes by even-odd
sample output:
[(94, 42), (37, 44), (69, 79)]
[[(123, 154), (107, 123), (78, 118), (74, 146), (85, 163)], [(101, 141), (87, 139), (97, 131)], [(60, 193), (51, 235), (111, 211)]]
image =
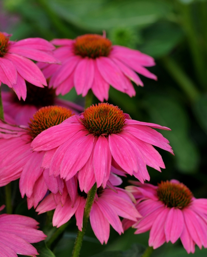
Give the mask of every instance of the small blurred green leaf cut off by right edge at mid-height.
[(207, 134), (207, 95), (202, 95), (195, 102), (194, 113), (200, 126)]

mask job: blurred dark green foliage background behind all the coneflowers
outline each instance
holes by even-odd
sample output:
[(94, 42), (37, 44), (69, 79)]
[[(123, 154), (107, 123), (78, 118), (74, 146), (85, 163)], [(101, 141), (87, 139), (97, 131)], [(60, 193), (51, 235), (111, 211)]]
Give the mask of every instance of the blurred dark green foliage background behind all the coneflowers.
[[(160, 174), (148, 168), (151, 183), (178, 179), (195, 197), (207, 197), (207, 2), (165, 0), (5, 0), (0, 1), (0, 31), (12, 33), (11, 40), (27, 37), (75, 38), (85, 33), (106, 30), (113, 44), (138, 49), (151, 55), (156, 66), (149, 70), (158, 76), (153, 81), (140, 75), (144, 87), (135, 86), (130, 98), (111, 88), (109, 102), (118, 105), (132, 119), (158, 123), (172, 131), (159, 131), (167, 139), (175, 156), (159, 149), (166, 169)], [(74, 89), (65, 99), (84, 105)], [(94, 103), (98, 102), (95, 99)], [(123, 186), (127, 185), (127, 179)], [(14, 187), (18, 184), (14, 183)], [(17, 190), (18, 191), (18, 190)], [(46, 216), (27, 211), (25, 200), (13, 195), (15, 213), (33, 216), (41, 224)], [(1, 190), (1, 195), (3, 191)], [(15, 198), (16, 197), (16, 198)], [(15, 200), (16, 199), (16, 200)], [(47, 227), (48, 229), (48, 227)], [(51, 227), (50, 227), (51, 229)], [(76, 237), (72, 220), (61, 238), (51, 247), (56, 257), (70, 256)], [(138, 257), (140, 246), (147, 246), (148, 233), (134, 235), (129, 229), (119, 236), (111, 228), (107, 245), (95, 238), (90, 225), (84, 238), (81, 256), (101, 251), (111, 257)], [(130, 249), (131, 248), (131, 249)], [(130, 249), (130, 250), (127, 250)], [(121, 253), (119, 251), (124, 250)], [(196, 249), (194, 256), (206, 256)], [(190, 254), (191, 255), (191, 254)], [(41, 256), (54, 257), (51, 252)], [(164, 244), (152, 256), (187, 256), (178, 241)]]

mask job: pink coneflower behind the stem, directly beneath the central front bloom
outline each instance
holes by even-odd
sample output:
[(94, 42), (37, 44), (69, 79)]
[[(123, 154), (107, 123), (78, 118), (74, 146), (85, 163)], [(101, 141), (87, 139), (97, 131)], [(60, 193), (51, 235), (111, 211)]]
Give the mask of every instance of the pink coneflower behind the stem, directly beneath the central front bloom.
[[(115, 186), (122, 183), (120, 178), (116, 175), (111, 175), (109, 181), (114, 186), (113, 190), (109, 187), (105, 189), (99, 187), (90, 211), (90, 224), (101, 244), (107, 243), (109, 239), (110, 224), (119, 234), (124, 232), (119, 216), (130, 219), (133, 222), (142, 217), (136, 210), (127, 191)], [(75, 189), (73, 193), (71, 193), (71, 186)], [(76, 176), (72, 178), (72, 181), (64, 189), (67, 192), (63, 193), (62, 197), (59, 195), (59, 203), (55, 201), (54, 194), (49, 194), (38, 205), (36, 211), (40, 214), (55, 209), (53, 226), (57, 227), (62, 226), (75, 214), (76, 225), (82, 231), (87, 194), (80, 191)]]

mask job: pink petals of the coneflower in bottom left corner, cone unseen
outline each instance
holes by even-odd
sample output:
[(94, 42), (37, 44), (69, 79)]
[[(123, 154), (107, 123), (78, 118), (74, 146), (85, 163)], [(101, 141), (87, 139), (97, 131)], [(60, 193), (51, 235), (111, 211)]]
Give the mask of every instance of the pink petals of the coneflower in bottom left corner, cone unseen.
[(36, 257), (37, 250), (30, 243), (40, 242), (47, 236), (37, 230), (34, 219), (16, 214), (0, 215), (0, 255), (17, 257), (17, 254)]

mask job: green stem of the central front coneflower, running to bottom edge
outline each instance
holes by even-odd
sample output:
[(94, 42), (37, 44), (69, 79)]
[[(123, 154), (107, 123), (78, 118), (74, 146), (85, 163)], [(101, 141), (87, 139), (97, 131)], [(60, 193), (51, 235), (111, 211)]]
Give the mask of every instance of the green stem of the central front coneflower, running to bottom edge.
[(74, 245), (73, 252), (72, 252), (72, 257), (78, 257), (80, 255), (80, 249), (81, 249), (81, 246), (83, 243), (83, 236), (85, 234), (86, 227), (88, 224), (90, 210), (93, 205), (94, 197), (96, 195), (96, 190), (97, 190), (97, 186), (95, 183), (93, 185), (93, 187), (90, 189), (90, 191), (88, 192), (85, 209), (84, 209), (84, 214), (83, 214), (83, 228), (82, 228), (82, 231), (78, 230), (78, 234), (77, 234), (77, 237), (75, 240), (75, 245)]

